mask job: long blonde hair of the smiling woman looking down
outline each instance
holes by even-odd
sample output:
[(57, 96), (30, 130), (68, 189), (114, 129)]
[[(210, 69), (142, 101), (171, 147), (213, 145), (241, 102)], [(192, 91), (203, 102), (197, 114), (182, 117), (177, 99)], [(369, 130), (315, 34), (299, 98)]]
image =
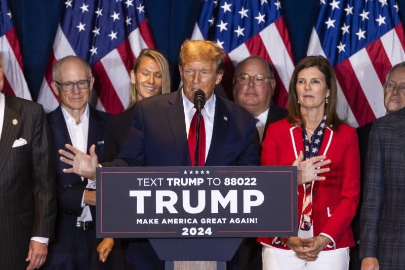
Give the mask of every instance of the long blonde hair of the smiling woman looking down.
[[(139, 63), (143, 57), (149, 57), (154, 60), (160, 68), (161, 71), (161, 94), (170, 93), (170, 72), (169, 72), (169, 63), (166, 57), (158, 52), (157, 50), (153, 49), (143, 49), (139, 54), (138, 58), (135, 60), (134, 63), (134, 72), (138, 70)], [(128, 105), (127, 109), (132, 108), (138, 102), (136, 85), (131, 84), (130, 87), (130, 104)]]

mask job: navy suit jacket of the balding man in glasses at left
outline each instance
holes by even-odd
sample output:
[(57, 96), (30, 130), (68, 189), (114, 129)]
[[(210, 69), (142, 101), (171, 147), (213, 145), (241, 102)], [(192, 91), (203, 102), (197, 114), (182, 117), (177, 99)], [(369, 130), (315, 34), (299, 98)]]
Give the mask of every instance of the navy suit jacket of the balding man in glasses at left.
[[(98, 111), (90, 106), (89, 133), (87, 139), (87, 151), (92, 144), (96, 145), (96, 154), (102, 159), (104, 153), (104, 128), (105, 122), (110, 114)], [(56, 156), (59, 149), (65, 149), (65, 144), (72, 144), (67, 130), (66, 122), (59, 105), (54, 111), (47, 114), (49, 126)], [(74, 229), (77, 217), (82, 214), (81, 206), (83, 192), (88, 183), (87, 179), (82, 181), (80, 176), (74, 173), (64, 173), (62, 169), (70, 166), (57, 160), (56, 179), (58, 185), (58, 212), (56, 222), (56, 242), (50, 245), (50, 252), (47, 258), (50, 264), (61, 263), (66, 256), (73, 242)], [(91, 206), (93, 220), (95, 219), (95, 207)]]

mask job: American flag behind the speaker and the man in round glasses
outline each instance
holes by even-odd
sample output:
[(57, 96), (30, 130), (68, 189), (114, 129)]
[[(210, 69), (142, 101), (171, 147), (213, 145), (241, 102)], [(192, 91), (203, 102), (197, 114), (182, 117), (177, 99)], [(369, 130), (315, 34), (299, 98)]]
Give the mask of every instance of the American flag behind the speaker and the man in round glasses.
[(206, 0), (191, 39), (210, 40), (224, 49), (227, 55), (222, 85), (229, 96), (235, 65), (250, 55), (266, 59), (275, 67), (273, 100), (287, 106), (294, 62), (279, 0)]

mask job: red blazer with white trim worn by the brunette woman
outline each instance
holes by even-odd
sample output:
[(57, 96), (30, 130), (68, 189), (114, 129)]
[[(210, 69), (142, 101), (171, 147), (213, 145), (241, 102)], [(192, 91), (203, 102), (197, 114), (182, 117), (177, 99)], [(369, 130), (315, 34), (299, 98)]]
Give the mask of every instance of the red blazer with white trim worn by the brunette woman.
[[(270, 124), (262, 143), (263, 166), (289, 166), (304, 151), (302, 128), (293, 126), (287, 119)], [(325, 129), (319, 155), (332, 161), (331, 171), (323, 174), (324, 181), (313, 182), (312, 214), (313, 233), (330, 236), (333, 248), (355, 245), (350, 223), (356, 213), (360, 192), (359, 150), (356, 130), (342, 124), (336, 131)], [(304, 200), (304, 185), (298, 186), (298, 224)], [(285, 248), (274, 238), (258, 238), (258, 242)], [(274, 242), (274, 243), (273, 243)], [(327, 248), (327, 249), (333, 249)]]

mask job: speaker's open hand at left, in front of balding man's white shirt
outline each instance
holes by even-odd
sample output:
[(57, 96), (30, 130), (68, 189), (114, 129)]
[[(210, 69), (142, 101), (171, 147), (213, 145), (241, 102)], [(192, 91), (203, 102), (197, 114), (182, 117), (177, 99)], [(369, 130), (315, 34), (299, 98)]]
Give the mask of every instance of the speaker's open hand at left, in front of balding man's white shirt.
[(65, 147), (71, 152), (59, 149), (59, 153), (62, 155), (60, 160), (71, 165), (72, 168), (63, 169), (63, 172), (75, 173), (90, 180), (96, 179), (96, 167), (99, 166), (96, 145), (90, 146), (90, 156), (68, 143), (65, 144)]

